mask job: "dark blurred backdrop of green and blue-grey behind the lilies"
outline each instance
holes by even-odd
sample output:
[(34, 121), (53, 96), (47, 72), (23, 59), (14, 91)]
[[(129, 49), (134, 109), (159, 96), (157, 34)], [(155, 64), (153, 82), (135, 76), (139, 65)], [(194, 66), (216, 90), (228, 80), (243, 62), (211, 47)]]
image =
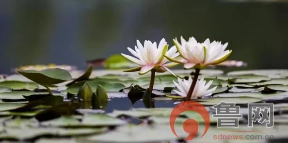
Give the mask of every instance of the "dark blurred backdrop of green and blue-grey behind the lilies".
[(0, 0), (0, 74), (128, 53), (136, 40), (221, 40), (245, 69), (288, 68), (288, 2), (276, 0)]

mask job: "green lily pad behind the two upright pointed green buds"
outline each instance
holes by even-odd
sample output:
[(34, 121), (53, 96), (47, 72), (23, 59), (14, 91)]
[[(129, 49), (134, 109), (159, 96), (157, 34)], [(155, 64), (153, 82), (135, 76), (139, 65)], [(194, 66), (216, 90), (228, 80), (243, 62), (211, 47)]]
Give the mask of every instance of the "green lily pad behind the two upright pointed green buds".
[(102, 82), (102, 81), (98, 82), (95, 80), (89, 80), (89, 81), (80, 81), (80, 82), (74, 83), (71, 86), (68, 86), (66, 91), (70, 94), (76, 95), (78, 93), (79, 88), (85, 82), (89, 83), (89, 85), (92, 87), (93, 92), (96, 92), (98, 84), (100, 84), (108, 92), (119, 91), (125, 88), (125, 85), (123, 85), (122, 83), (108, 83), (108, 82)]

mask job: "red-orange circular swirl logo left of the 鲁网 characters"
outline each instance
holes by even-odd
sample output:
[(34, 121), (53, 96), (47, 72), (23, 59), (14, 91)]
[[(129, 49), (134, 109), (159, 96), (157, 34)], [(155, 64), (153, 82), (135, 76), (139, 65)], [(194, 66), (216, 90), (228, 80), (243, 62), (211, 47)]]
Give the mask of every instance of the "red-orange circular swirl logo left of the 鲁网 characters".
[[(178, 137), (178, 135), (175, 132), (174, 124), (176, 122), (176, 118), (185, 111), (195, 111), (198, 114), (200, 114), (204, 119), (205, 130), (202, 136), (200, 137), (202, 138), (206, 134), (210, 126), (210, 116), (207, 109), (202, 104), (196, 101), (184, 101), (174, 107), (174, 109), (171, 111), (169, 120), (171, 130)], [(194, 119), (187, 119), (183, 123), (183, 129), (185, 132), (189, 133), (189, 135), (185, 138), (185, 140), (192, 140), (198, 133), (199, 129), (198, 122), (195, 121)]]

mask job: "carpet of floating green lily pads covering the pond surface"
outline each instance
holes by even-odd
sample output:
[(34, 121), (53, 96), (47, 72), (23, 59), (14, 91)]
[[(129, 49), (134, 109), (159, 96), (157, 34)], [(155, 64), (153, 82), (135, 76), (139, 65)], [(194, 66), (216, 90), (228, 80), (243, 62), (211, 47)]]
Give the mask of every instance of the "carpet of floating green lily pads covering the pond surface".
[[(172, 71), (184, 79), (194, 74), (187, 70)], [(0, 140), (37, 143), (143, 143), (177, 140), (169, 125), (173, 106), (157, 107), (160, 103), (173, 105), (182, 101), (181, 98), (171, 98), (177, 96), (173, 92), (176, 88), (173, 80), (177, 78), (171, 74), (159, 73), (155, 76), (152, 95), (147, 96), (150, 76), (121, 73), (119, 70), (92, 70), (89, 67), (82, 72), (53, 68), (19, 73), (1, 78)], [(38, 81), (44, 76), (45, 81)], [(211, 114), (215, 112), (211, 106), (221, 101), (234, 102), (242, 107), (243, 118), (240, 119), (239, 130), (269, 130), (269, 133), (261, 134), (272, 134), (277, 139), (287, 136), (288, 104), (285, 102), (288, 98), (288, 70), (250, 70), (225, 74), (221, 70), (205, 69), (201, 70), (199, 77), (212, 80), (211, 86), (216, 87), (209, 98), (195, 99), (205, 105)], [(56, 82), (59, 83), (54, 84)], [(105, 113), (110, 100), (118, 98), (130, 99), (131, 106), (142, 102), (144, 108), (128, 111), (116, 109)], [(265, 126), (247, 128), (247, 103), (262, 102), (275, 103), (275, 126), (271, 129)], [(153, 106), (156, 108), (151, 108)], [(188, 118), (198, 121), (200, 129), (204, 128), (200, 115), (191, 111), (184, 112), (177, 118), (175, 125), (180, 138), (187, 136), (182, 124)], [(215, 126), (215, 118), (211, 117), (210, 121), (211, 127), (205, 139), (196, 138), (193, 142), (207, 143), (216, 133), (225, 134), (223, 129)], [(229, 143), (234, 142), (237, 140)]]

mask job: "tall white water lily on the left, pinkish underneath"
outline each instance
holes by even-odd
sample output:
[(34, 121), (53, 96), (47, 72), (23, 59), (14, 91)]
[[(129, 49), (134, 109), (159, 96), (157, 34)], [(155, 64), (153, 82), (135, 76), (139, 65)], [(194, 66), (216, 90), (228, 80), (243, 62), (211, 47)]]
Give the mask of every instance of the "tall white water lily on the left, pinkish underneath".
[(135, 50), (128, 47), (128, 51), (136, 58), (122, 53), (121, 55), (140, 66), (125, 70), (124, 72), (140, 71), (140, 75), (144, 75), (152, 69), (156, 72), (165, 72), (166, 70), (171, 72), (168, 67), (178, 64), (169, 62), (169, 60), (164, 57), (165, 54), (173, 58), (179, 56), (175, 46), (168, 50), (168, 45), (164, 38), (160, 41), (158, 47), (156, 42), (152, 43), (149, 40), (145, 40), (143, 46), (140, 41), (137, 40)]

